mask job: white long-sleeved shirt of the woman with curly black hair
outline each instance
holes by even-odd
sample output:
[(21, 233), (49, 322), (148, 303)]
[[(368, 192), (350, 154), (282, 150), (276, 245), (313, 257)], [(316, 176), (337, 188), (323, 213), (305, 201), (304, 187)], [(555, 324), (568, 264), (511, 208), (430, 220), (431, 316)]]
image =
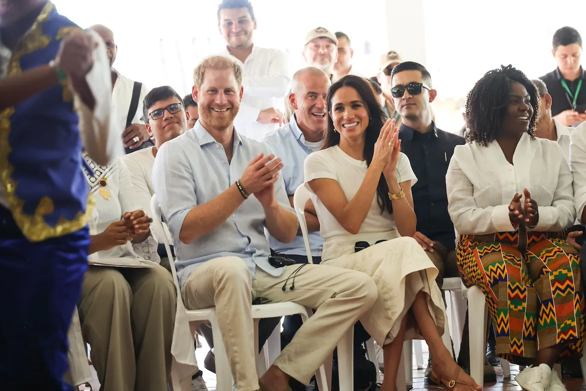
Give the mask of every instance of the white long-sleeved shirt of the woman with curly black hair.
[(539, 207), (533, 231), (560, 231), (575, 220), (572, 175), (554, 141), (523, 134), (513, 164), (496, 141), (487, 147), (477, 142), (458, 145), (445, 180), (448, 212), (459, 234), (515, 231), (509, 205), (523, 189), (529, 190)]

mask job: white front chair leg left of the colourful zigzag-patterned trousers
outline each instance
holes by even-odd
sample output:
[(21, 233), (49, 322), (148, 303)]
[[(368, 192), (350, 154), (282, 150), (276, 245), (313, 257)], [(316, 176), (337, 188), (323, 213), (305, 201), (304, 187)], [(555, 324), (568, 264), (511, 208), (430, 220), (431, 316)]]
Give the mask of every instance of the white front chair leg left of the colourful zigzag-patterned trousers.
[(484, 294), (476, 286), (468, 290), (468, 312), (470, 322), (470, 376), (478, 385), (483, 385), (488, 307), (486, 307)]

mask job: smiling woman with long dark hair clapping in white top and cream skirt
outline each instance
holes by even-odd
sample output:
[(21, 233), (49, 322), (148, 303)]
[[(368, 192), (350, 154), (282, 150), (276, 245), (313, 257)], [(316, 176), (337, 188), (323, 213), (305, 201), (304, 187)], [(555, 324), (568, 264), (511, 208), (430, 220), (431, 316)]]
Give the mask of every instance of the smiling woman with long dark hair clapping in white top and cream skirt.
[(376, 283), (377, 300), (360, 322), (383, 346), (381, 389), (396, 389), (403, 341), (417, 335), (436, 358), (434, 380), (449, 389), (479, 389), (440, 337), (445, 318), (438, 270), (411, 237), (417, 178), (400, 152), (394, 120), (384, 122), (370, 83), (353, 75), (332, 84), (328, 111), (324, 149), (305, 159), (305, 186), (325, 239), (321, 264), (362, 271)]

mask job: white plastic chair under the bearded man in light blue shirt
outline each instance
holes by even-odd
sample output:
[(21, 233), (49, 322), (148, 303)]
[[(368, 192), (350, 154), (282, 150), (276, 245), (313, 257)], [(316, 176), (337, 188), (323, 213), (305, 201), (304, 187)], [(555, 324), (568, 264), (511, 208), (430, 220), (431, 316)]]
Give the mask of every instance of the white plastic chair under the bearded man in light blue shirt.
[[(152, 224), (158, 226), (163, 232), (162, 226), (162, 212), (159, 201), (156, 195), (151, 198), (151, 210), (154, 216)], [(169, 266), (171, 267), (171, 273), (173, 274), (173, 281), (175, 282), (176, 288), (179, 290), (179, 280), (177, 278), (177, 272), (175, 270), (175, 261), (171, 253), (171, 247), (167, 237), (163, 235), (163, 241), (165, 244), (165, 250), (169, 257)], [(263, 318), (277, 318), (284, 317), (286, 315), (301, 315), (301, 319), (305, 322), (313, 312), (311, 309), (304, 307), (303, 305), (294, 302), (279, 302), (279, 303), (268, 303), (261, 305), (252, 306), (252, 314), (254, 319), (254, 346), (258, 346), (258, 319)], [(222, 333), (216, 315), (216, 308), (205, 308), (203, 310), (188, 310), (187, 316), (189, 319), (189, 325), (195, 335), (195, 327), (199, 323), (210, 323), (212, 325), (212, 335), (214, 342), (214, 358), (216, 362), (216, 390), (217, 391), (232, 391), (232, 372), (230, 363), (226, 353), (226, 348), (222, 339)], [(352, 341), (350, 341), (350, 346)], [(258, 355), (257, 355), (258, 363)], [(258, 368), (257, 368), (258, 370)], [(318, 386), (320, 390), (329, 391), (326, 370), (322, 365), (318, 372), (315, 373)], [(176, 373), (171, 373), (173, 391), (190, 391), (191, 390), (191, 379), (179, 379)], [(340, 391), (352, 391), (352, 389), (342, 389)]]

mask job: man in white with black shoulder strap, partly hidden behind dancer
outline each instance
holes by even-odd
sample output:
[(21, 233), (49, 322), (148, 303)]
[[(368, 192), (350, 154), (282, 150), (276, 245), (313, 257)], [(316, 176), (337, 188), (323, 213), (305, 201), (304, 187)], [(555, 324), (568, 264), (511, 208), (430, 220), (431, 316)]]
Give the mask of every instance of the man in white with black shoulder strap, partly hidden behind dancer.
[(118, 54), (118, 45), (114, 41), (112, 30), (103, 25), (90, 27), (101, 36), (106, 45), (106, 53), (110, 59), (112, 76), (112, 104), (114, 121), (120, 130), (121, 139), (127, 154), (137, 149), (152, 147), (142, 111), (139, 108), (148, 93), (148, 88), (138, 81), (133, 81), (114, 69), (114, 61)]

